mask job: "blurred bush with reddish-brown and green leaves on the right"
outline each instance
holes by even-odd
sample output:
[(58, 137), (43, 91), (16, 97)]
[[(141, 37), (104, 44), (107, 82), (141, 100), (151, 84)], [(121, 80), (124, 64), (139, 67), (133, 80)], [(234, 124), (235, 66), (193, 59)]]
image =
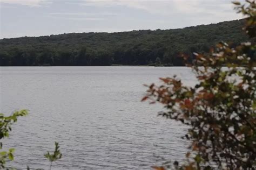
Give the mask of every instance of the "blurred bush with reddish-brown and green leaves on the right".
[(168, 111), (161, 116), (190, 126), (185, 137), (192, 152), (186, 154), (188, 164), (178, 169), (256, 167), (256, 69), (251, 62), (256, 23), (250, 22), (256, 5), (248, 0), (234, 4), (248, 17), (245, 30), (252, 42), (236, 47), (220, 42), (207, 55), (194, 53), (196, 86), (184, 86), (176, 76), (161, 78), (163, 83), (151, 84), (143, 98), (164, 104)]

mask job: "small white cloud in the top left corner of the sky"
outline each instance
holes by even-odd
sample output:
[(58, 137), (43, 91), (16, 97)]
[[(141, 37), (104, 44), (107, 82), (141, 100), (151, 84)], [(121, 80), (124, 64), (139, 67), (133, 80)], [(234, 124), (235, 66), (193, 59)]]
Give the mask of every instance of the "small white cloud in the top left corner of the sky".
[(41, 6), (42, 4), (49, 4), (48, 0), (1, 0), (1, 3), (18, 4), (26, 6)]

